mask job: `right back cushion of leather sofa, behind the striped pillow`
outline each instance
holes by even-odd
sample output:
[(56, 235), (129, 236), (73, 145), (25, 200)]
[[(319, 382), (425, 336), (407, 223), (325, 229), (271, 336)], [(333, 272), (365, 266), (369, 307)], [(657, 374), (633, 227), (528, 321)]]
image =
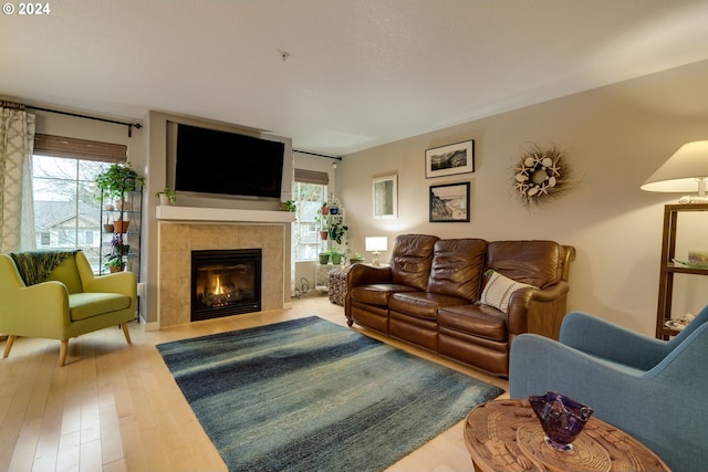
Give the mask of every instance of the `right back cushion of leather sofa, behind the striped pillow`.
[(540, 289), (562, 280), (563, 261), (564, 249), (553, 241), (493, 241), (487, 249), (487, 269)]

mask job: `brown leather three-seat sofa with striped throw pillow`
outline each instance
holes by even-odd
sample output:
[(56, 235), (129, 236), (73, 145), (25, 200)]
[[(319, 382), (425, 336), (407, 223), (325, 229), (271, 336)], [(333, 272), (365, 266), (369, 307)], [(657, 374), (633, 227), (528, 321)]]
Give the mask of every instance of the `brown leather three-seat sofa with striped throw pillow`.
[(558, 339), (574, 259), (553, 241), (402, 234), (389, 266), (350, 269), (344, 313), (350, 326), (507, 376), (514, 336)]

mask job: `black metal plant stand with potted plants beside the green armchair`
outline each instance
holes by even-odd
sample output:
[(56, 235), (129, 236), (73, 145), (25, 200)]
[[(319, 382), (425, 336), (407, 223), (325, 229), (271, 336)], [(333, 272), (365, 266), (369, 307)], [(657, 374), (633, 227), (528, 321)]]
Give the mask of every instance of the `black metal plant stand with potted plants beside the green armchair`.
[[(105, 200), (105, 201), (104, 201)], [(113, 204), (112, 210), (107, 210), (106, 206)], [(143, 209), (143, 191), (126, 192), (121, 202), (107, 201), (102, 197), (101, 201), (101, 221), (102, 223), (113, 223), (113, 230), (101, 233), (101, 248), (98, 251), (98, 273), (106, 274), (110, 271), (106, 263), (116, 259), (125, 270), (135, 273), (137, 280), (140, 276), (140, 232), (142, 232), (142, 209)], [(115, 227), (118, 220), (127, 221), (127, 228), (121, 229)], [(111, 242), (118, 238), (123, 247), (129, 247), (127, 250), (121, 251), (119, 248), (113, 247)]]

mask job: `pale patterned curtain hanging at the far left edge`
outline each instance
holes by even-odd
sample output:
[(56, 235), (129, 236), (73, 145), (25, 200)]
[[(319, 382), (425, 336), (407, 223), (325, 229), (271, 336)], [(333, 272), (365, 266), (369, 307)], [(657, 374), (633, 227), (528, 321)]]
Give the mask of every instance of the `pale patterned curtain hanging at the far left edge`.
[(34, 249), (34, 115), (0, 101), (0, 252)]

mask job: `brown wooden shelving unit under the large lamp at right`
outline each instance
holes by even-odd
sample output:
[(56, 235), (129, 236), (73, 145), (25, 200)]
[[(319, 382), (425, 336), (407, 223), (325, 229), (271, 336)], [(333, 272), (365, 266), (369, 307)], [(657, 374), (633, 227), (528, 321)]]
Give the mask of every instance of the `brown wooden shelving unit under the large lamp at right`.
[(664, 235), (662, 238), (662, 264), (659, 273), (659, 298), (656, 314), (656, 337), (668, 339), (679, 331), (666, 326), (671, 319), (674, 275), (708, 275), (708, 269), (686, 268), (674, 263), (676, 258), (676, 233), (681, 212), (708, 211), (708, 204), (667, 204), (664, 207)]

